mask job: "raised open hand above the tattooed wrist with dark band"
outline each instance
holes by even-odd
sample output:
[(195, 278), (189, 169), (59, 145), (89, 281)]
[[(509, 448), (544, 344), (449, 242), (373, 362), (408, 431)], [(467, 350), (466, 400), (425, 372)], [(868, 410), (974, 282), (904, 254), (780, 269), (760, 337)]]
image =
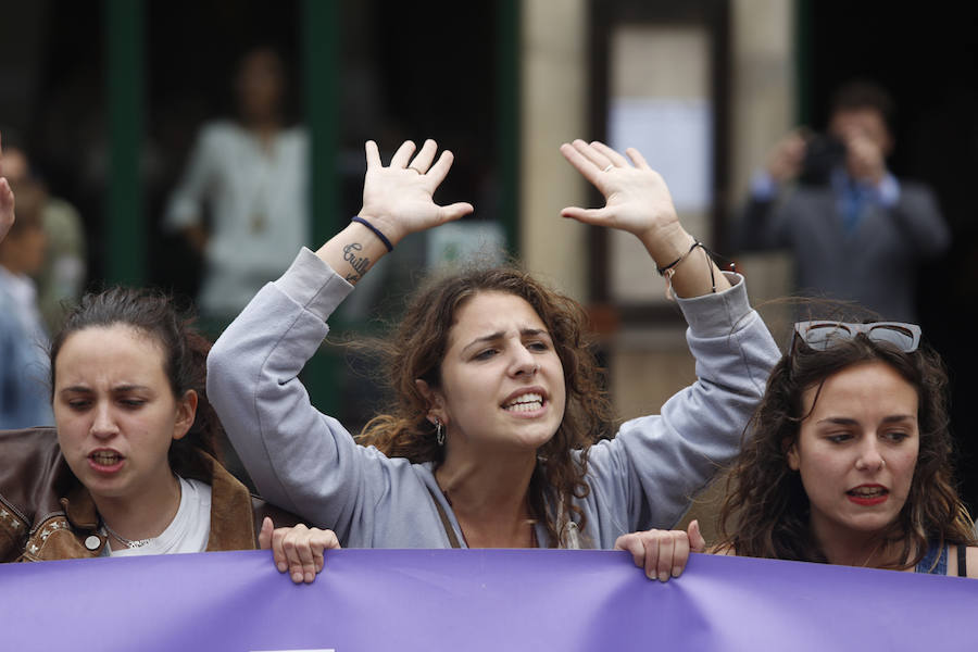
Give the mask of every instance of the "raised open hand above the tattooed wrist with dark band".
[(390, 165), (385, 167), (377, 143), (373, 140), (366, 143), (367, 172), (360, 216), (394, 244), (409, 234), (457, 220), (473, 211), (472, 204), (465, 202), (447, 206), (435, 203), (435, 190), (452, 166), (452, 153), (446, 150), (435, 161), (438, 145), (434, 140), (426, 140), (412, 159), (414, 151), (414, 143), (405, 141), (394, 152)]

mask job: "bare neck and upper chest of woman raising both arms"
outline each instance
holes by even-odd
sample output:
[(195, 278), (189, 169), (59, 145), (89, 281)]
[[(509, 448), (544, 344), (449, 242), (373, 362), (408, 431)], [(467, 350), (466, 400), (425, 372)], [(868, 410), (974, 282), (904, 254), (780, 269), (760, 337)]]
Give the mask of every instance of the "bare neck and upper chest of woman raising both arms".
[(469, 548), (528, 548), (534, 546), (529, 513), (529, 484), (536, 454), (514, 460), (446, 455), (435, 473), (451, 502)]

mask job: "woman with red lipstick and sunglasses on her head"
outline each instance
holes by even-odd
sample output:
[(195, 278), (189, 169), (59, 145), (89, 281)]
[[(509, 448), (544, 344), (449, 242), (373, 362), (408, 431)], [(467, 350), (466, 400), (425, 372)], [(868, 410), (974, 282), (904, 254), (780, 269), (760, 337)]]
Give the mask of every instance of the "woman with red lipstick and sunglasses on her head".
[(946, 386), (916, 325), (797, 324), (729, 477), (719, 549), (978, 577)]

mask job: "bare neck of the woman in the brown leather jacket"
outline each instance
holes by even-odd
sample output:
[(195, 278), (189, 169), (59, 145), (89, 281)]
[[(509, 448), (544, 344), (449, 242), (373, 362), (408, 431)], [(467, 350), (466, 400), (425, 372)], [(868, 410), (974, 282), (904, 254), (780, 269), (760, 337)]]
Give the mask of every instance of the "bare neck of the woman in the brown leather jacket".
[[(112, 531), (131, 541), (152, 539), (173, 523), (180, 507), (180, 481), (168, 473), (168, 477), (155, 484), (151, 491), (126, 497), (92, 496), (92, 500), (102, 523)], [(112, 536), (109, 541), (113, 550), (126, 547)]]

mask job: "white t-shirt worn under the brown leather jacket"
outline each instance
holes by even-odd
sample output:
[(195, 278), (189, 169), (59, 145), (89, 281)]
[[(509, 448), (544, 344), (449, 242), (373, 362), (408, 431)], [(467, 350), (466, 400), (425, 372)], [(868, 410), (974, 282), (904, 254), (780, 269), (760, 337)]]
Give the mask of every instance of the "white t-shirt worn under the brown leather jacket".
[[(137, 556), (143, 554), (175, 554), (203, 552), (211, 535), (211, 486), (199, 480), (180, 481), (180, 506), (176, 516), (159, 537), (139, 548), (103, 549), (103, 556)], [(104, 530), (103, 530), (104, 531)]]

